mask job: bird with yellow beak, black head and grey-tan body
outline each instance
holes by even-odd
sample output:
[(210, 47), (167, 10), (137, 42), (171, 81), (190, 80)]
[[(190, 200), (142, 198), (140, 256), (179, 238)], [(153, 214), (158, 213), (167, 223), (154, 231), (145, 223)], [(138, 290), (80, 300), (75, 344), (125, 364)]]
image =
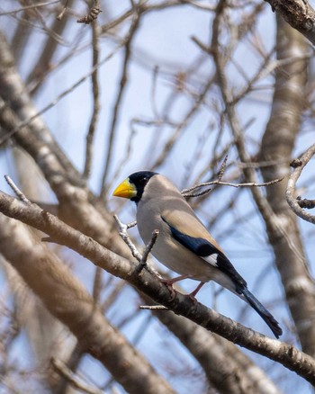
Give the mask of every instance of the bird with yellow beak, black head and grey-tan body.
[(146, 245), (153, 231), (158, 230), (151, 253), (160, 263), (180, 275), (165, 281), (167, 285), (172, 286), (185, 278), (199, 281), (190, 294), (195, 300), (205, 282), (217, 282), (247, 301), (276, 338), (283, 334), (277, 320), (247, 289), (245, 279), (166, 176), (152, 171), (133, 173), (116, 187), (112, 195), (136, 203), (139, 235)]

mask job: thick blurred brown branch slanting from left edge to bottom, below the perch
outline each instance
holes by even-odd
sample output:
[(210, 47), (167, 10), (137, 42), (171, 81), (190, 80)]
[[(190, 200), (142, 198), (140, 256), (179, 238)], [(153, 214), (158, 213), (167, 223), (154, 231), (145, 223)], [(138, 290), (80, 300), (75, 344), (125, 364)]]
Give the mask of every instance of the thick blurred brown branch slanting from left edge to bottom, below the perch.
[[(16, 201), (12, 200), (11, 208), (14, 209)], [(32, 210), (36, 206), (21, 203), (23, 210)], [(44, 210), (40, 211), (42, 218), (54, 218)], [(82, 352), (99, 360), (128, 392), (136, 394), (143, 390), (149, 394), (157, 390), (161, 394), (173, 393), (143, 355), (103, 316), (66, 264), (35, 240), (22, 223), (4, 215), (0, 215), (0, 223), (2, 254), (40, 297), (50, 314), (76, 336)], [(58, 223), (62, 224), (60, 220)]]

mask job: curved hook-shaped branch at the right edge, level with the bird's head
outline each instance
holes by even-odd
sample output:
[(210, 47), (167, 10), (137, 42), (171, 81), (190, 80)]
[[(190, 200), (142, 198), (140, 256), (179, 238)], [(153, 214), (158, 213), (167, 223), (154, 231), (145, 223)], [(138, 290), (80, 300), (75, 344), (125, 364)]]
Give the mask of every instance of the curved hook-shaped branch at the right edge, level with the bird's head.
[[(293, 210), (293, 212), (298, 215), (300, 218), (303, 220), (310, 221), (312, 224), (315, 224), (315, 216), (311, 215), (308, 212), (305, 212), (305, 210), (302, 210), (301, 203), (302, 201), (296, 199), (294, 197), (295, 193), (295, 184), (297, 183), (300, 175), (302, 174), (302, 170), (304, 167), (310, 162), (311, 157), (315, 155), (315, 144), (312, 145), (310, 148), (306, 150), (306, 152), (302, 155), (302, 157), (299, 158), (299, 166), (293, 165), (293, 173), (289, 178), (285, 197), (286, 201), (288, 201), (288, 204), (290, 205), (290, 208)], [(305, 202), (303, 203), (305, 204)], [(308, 200), (307, 202), (307, 208), (314, 208), (314, 204), (311, 204), (311, 201)]]

